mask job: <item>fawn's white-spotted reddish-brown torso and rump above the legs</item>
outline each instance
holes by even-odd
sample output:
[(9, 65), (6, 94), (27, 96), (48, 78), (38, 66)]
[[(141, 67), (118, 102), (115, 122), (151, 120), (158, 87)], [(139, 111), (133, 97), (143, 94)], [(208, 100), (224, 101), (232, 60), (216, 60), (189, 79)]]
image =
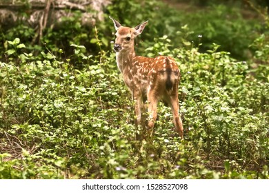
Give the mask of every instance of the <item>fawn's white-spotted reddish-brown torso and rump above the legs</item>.
[(149, 89), (165, 92), (172, 88), (177, 89), (179, 76), (177, 63), (171, 57), (134, 57), (128, 75), (130, 79), (128, 87), (143, 93)]

